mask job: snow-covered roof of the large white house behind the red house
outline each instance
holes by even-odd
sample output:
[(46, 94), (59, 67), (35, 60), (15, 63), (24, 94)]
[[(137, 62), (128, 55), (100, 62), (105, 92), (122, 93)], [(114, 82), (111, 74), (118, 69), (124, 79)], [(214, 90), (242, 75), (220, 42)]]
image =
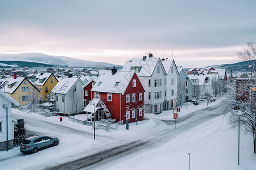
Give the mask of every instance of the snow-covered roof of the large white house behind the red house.
[(142, 57), (128, 59), (122, 71), (130, 71), (131, 67), (141, 67), (138, 76), (151, 76), (158, 61), (160, 61), (160, 58), (155, 57), (147, 57), (145, 60)]

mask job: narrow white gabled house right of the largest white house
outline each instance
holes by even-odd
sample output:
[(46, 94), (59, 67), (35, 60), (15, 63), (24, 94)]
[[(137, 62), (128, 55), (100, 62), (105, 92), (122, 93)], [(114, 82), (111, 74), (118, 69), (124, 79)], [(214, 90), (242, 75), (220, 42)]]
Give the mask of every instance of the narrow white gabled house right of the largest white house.
[(177, 103), (177, 70), (174, 60), (162, 59), (164, 70), (167, 75), (164, 76), (164, 110), (173, 109)]

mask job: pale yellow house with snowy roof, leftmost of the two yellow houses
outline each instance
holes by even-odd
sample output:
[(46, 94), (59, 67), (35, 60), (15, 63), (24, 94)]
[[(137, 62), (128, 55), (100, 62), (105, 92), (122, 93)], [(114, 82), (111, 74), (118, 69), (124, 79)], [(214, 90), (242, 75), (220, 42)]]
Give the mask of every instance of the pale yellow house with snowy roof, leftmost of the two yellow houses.
[(17, 77), (7, 79), (7, 84), (3, 88), (3, 91), (13, 97), (20, 105), (26, 105), (30, 103), (33, 96), (40, 94), (38, 88), (36, 88), (30, 80), (26, 77)]

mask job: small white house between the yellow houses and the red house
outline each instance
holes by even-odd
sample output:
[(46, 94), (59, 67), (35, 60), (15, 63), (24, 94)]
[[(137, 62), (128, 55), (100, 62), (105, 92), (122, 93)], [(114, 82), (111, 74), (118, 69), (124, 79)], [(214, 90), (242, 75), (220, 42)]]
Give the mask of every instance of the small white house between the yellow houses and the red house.
[(51, 101), (55, 104), (56, 112), (75, 114), (83, 112), (83, 88), (81, 78), (60, 78), (51, 91)]

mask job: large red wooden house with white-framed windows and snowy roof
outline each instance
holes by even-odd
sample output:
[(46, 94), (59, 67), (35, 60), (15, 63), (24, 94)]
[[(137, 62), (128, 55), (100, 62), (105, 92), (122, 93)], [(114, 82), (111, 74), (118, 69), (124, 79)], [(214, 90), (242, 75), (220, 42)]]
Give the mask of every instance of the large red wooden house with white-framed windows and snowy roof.
[(112, 69), (102, 74), (92, 88), (92, 98), (100, 99), (121, 124), (144, 119), (144, 88), (135, 71)]

